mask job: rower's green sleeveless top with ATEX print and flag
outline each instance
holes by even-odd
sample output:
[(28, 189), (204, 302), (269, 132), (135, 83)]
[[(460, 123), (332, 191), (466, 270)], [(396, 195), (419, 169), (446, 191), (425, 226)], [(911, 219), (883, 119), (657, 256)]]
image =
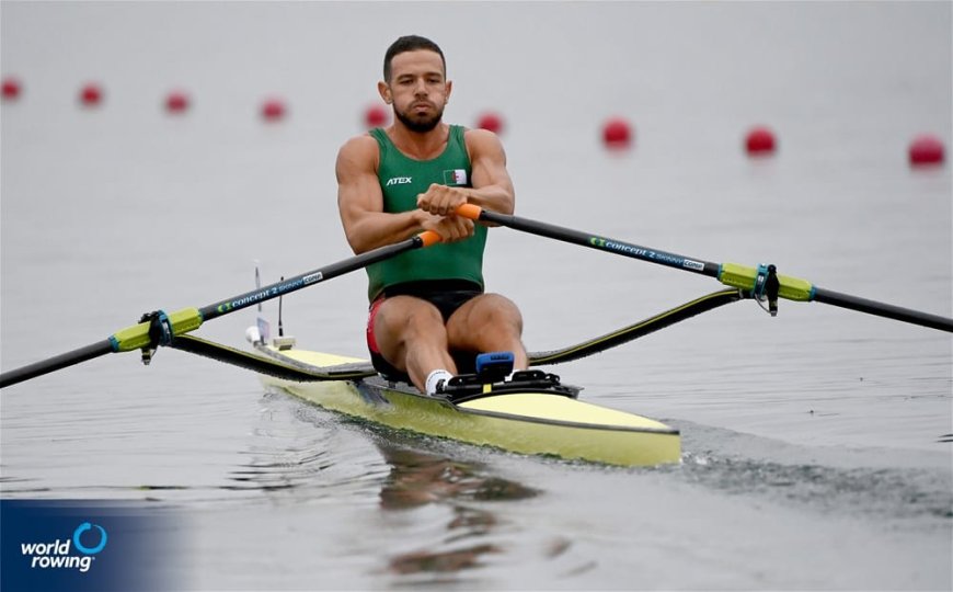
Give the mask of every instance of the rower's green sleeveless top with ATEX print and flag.
[[(462, 126), (450, 126), (447, 148), (433, 160), (414, 160), (404, 156), (381, 128), (371, 129), (370, 135), (380, 149), (377, 178), (383, 192), (384, 212), (416, 209), (417, 195), (427, 191), (430, 183), (472, 186)], [(367, 295), (374, 300), (389, 286), (428, 280), (464, 280), (482, 288), (485, 246), (486, 227), (476, 225), (475, 232), (467, 240), (414, 249), (368, 265)]]

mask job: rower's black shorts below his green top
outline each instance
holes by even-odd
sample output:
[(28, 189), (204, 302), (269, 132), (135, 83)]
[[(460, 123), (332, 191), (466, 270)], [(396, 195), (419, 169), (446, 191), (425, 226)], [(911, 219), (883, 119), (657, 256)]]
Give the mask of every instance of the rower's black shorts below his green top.
[[(409, 282), (406, 284), (397, 284), (384, 288), (383, 294), (370, 303), (370, 311), (367, 317), (367, 349), (370, 352), (370, 363), (374, 364), (374, 368), (386, 378), (410, 383), (410, 377), (406, 373), (399, 371), (391, 365), (390, 362), (383, 358), (377, 346), (377, 340), (374, 338), (374, 321), (377, 316), (377, 310), (383, 300), (394, 296), (413, 296), (415, 298), (421, 298), (436, 306), (446, 323), (458, 308), (481, 294), (483, 294), (483, 288), (480, 284), (468, 282), (466, 280)], [(461, 352), (459, 360), (457, 360), (457, 355), (453, 357), (457, 361), (458, 368), (462, 365), (463, 368), (472, 369), (472, 352)], [(470, 369), (467, 372), (470, 372)]]

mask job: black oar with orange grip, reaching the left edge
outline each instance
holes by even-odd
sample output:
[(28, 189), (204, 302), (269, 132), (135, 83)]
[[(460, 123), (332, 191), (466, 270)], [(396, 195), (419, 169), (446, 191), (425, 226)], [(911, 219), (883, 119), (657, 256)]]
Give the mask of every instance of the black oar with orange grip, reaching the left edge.
[(159, 310), (146, 315), (138, 325), (122, 329), (107, 339), (0, 374), (0, 388), (5, 388), (16, 383), (49, 374), (50, 372), (87, 362), (108, 353), (142, 350), (142, 360), (148, 363), (151, 352), (157, 345), (169, 344), (175, 335), (194, 331), (207, 320), (222, 317), (236, 310), (277, 298), (303, 287), (331, 280), (332, 277), (364, 269), (371, 263), (383, 261), (405, 251), (427, 247), (439, 241), (439, 235), (425, 231), (401, 242), (380, 247), (338, 261), (337, 263), (332, 263), (325, 267), (302, 273), (301, 275), (296, 275), (295, 277), (246, 292), (203, 308), (184, 308), (169, 315)]

